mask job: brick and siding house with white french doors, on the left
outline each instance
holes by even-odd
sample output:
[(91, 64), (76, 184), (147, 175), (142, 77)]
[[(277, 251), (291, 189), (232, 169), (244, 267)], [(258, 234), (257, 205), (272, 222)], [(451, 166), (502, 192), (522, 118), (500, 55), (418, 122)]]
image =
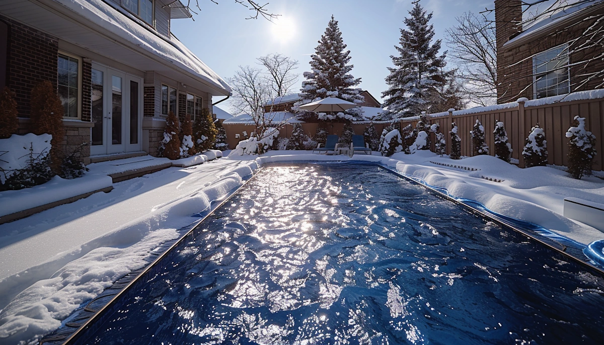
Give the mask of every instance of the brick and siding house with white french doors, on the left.
[(170, 33), (172, 19), (190, 17), (178, 0), (0, 1), (0, 87), (16, 93), (21, 133), (31, 88), (50, 80), (67, 150), (91, 142), (86, 162), (155, 154), (169, 111), (194, 119), (231, 93)]

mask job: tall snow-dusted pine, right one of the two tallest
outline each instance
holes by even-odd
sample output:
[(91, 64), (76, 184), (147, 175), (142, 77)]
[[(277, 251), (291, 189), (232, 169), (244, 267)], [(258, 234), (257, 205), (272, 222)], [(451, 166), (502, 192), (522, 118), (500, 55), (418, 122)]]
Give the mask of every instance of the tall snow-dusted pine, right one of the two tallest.
[(395, 46), (400, 56), (391, 55), (394, 68), (388, 68), (386, 77), (388, 90), (382, 92), (386, 98), (384, 107), (399, 116), (418, 115), (427, 110), (427, 98), (437, 87), (445, 83), (445, 55), (438, 56), (440, 40), (430, 44), (434, 37), (434, 28), (429, 24), (432, 13), (426, 11), (416, 2), (411, 17), (404, 22), (408, 30), (400, 29), (400, 46)]

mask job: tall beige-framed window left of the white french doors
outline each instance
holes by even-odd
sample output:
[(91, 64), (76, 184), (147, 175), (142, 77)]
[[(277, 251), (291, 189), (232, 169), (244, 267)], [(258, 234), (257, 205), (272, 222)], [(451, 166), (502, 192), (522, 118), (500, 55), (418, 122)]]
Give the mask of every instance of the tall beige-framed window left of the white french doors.
[(63, 104), (63, 116), (78, 118), (80, 113), (80, 59), (59, 54), (57, 59), (57, 92)]

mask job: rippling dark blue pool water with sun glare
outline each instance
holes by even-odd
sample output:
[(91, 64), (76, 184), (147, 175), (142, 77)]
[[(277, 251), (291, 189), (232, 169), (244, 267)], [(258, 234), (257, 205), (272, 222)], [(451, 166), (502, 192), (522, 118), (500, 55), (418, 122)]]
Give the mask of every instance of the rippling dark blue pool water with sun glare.
[(375, 166), (264, 168), (77, 344), (602, 344), (604, 279)]

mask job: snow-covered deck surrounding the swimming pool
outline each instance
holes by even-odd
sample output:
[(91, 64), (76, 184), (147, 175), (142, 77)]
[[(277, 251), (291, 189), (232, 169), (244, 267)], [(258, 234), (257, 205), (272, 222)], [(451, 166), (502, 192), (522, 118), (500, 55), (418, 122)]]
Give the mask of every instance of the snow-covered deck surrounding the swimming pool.
[(352, 159), (307, 151), (231, 156), (115, 183), (108, 194), (0, 225), (0, 343), (33, 341), (53, 331), (83, 302), (146, 265), (150, 251), (178, 237), (177, 229), (199, 219), (191, 215), (228, 195), (243, 177), (265, 163), (295, 160), (381, 162), (457, 198), (583, 244), (604, 238), (599, 230), (562, 216), (565, 197), (604, 200), (604, 180), (597, 177), (574, 180), (549, 167), (519, 169), (490, 156), (451, 160), (428, 151)]

